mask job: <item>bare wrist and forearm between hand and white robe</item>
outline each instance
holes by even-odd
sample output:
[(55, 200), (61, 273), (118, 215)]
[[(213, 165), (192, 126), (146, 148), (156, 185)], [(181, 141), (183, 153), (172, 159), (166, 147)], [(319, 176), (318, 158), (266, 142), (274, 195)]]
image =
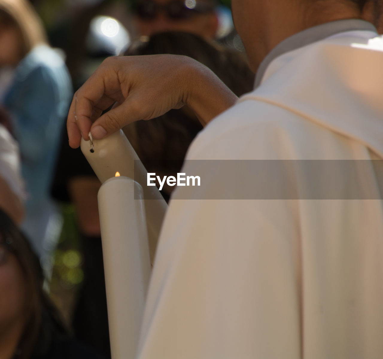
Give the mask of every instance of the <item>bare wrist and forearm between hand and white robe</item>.
[(237, 96), (207, 67), (197, 63), (188, 70), (187, 98), (185, 103), (203, 126), (233, 106)]

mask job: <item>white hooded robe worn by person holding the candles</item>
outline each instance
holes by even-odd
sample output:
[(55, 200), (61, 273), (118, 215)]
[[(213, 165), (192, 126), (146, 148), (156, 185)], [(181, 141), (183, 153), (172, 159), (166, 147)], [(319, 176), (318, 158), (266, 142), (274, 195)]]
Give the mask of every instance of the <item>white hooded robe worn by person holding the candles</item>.
[[(256, 90), (206, 126), (187, 159), (382, 159), (383, 39), (375, 36), (345, 32), (279, 56)], [(217, 173), (203, 171), (205, 189), (224, 196)], [(358, 175), (370, 197), (178, 199), (177, 188), (137, 357), (382, 358), (381, 183), (373, 166)]]

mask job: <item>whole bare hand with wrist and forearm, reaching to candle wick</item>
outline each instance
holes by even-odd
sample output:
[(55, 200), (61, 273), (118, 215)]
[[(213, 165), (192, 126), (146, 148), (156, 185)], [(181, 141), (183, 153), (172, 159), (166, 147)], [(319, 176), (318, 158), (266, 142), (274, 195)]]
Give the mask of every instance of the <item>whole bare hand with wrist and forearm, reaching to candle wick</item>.
[(159, 117), (184, 104), (205, 125), (236, 100), (211, 70), (190, 57), (109, 57), (74, 95), (67, 120), (69, 145), (79, 147), (81, 136), (88, 140), (89, 132), (101, 139), (131, 122)]

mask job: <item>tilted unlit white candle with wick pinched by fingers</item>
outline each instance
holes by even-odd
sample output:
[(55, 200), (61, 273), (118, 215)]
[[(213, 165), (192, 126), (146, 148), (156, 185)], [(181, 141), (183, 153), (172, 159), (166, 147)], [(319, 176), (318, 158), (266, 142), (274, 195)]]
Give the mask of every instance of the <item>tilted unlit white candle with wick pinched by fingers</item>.
[(113, 178), (118, 171), (121, 176), (134, 178), (141, 184), (144, 189), (149, 251), (151, 263), (153, 263), (167, 204), (157, 187), (147, 186), (147, 171), (139, 160), (136, 151), (122, 130), (104, 139), (93, 140), (93, 145), (90, 141), (82, 139), (81, 150), (101, 183)]

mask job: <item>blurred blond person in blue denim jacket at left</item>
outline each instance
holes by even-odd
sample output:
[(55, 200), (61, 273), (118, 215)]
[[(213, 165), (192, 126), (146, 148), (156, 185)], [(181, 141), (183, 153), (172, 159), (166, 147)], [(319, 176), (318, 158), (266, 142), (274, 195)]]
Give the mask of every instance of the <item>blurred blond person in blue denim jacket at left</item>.
[(49, 190), (72, 90), (64, 61), (48, 46), (43, 26), (26, 0), (0, 0), (0, 103), (11, 115), (26, 180), (23, 229), (47, 273), (61, 231)]

